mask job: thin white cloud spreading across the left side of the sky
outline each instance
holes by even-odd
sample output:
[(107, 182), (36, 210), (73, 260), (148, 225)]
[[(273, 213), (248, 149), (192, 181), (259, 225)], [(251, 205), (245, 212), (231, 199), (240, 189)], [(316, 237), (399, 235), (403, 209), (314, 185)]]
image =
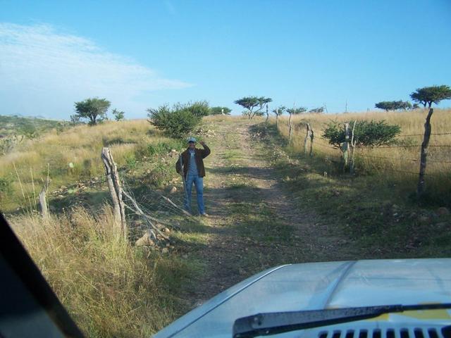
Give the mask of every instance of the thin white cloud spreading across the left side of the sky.
[(87, 97), (127, 109), (142, 106), (136, 98), (154, 90), (191, 86), (49, 25), (0, 23), (0, 101), (9, 109), (0, 113), (67, 118), (73, 102)]

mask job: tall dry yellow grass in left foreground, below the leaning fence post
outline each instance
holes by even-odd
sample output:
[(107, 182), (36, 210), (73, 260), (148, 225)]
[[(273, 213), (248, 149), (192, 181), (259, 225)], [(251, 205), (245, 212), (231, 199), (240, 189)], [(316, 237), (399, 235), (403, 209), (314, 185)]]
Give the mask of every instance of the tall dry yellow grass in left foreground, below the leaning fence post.
[(185, 266), (130, 246), (113, 230), (111, 208), (10, 222), (87, 337), (149, 337), (180, 314), (171, 287)]

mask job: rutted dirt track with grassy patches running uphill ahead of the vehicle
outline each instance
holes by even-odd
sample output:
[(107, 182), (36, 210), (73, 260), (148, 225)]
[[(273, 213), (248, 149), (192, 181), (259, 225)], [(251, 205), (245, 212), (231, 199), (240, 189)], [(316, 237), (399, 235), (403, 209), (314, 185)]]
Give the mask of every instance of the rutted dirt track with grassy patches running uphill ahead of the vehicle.
[(210, 217), (204, 244), (190, 249), (204, 264), (187, 294), (192, 307), (271, 266), (333, 260), (335, 247), (346, 242), (330, 237), (316, 215), (295, 208), (268, 161), (276, 149), (253, 131), (255, 124), (235, 119), (207, 126), (214, 135), (205, 138)]

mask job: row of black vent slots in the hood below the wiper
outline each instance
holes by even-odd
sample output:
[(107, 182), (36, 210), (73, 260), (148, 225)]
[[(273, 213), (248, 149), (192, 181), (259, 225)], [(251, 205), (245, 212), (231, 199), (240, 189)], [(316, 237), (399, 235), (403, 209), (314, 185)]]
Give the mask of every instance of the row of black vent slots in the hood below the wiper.
[(450, 327), (321, 331), (318, 338), (451, 338)]

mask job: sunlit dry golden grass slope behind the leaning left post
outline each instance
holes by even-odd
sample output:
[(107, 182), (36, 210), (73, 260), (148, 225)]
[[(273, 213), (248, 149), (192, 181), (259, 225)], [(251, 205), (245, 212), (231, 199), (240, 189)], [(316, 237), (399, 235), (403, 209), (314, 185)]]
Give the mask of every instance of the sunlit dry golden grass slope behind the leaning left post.
[(94, 127), (79, 125), (65, 132), (52, 130), (38, 139), (18, 144), (13, 151), (0, 156), (0, 208), (35, 209), (35, 198), (47, 177), (50, 189), (78, 180), (104, 175), (101, 149), (109, 146), (119, 167), (132, 166), (142, 156), (152, 153), (152, 147), (167, 148), (180, 142), (164, 137), (147, 120), (106, 122)]

